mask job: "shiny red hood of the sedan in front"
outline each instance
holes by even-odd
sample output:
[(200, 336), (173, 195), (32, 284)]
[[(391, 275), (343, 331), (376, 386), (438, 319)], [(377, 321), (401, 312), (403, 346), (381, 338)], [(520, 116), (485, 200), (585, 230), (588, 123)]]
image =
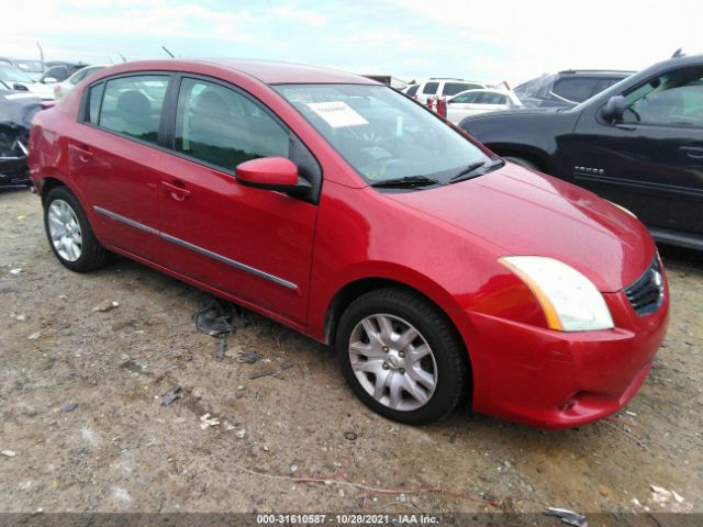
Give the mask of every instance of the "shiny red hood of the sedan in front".
[(492, 242), (503, 256), (561, 260), (601, 292), (634, 282), (655, 254), (635, 217), (592, 192), (512, 164), (459, 183), (386, 195)]

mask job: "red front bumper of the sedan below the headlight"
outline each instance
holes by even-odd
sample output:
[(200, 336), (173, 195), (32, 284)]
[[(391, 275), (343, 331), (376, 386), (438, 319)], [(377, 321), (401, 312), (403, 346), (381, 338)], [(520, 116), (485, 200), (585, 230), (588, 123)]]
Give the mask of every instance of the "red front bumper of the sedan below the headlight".
[(471, 313), (473, 410), (558, 429), (625, 406), (665, 337), (669, 293), (647, 316), (635, 314), (624, 292), (603, 296), (614, 329), (565, 333)]

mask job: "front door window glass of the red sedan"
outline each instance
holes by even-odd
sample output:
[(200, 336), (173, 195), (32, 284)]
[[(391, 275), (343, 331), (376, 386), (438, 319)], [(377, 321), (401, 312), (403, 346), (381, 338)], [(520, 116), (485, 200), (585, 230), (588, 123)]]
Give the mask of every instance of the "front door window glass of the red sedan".
[(186, 78), (178, 94), (176, 149), (233, 171), (249, 159), (289, 157), (290, 135), (237, 91)]

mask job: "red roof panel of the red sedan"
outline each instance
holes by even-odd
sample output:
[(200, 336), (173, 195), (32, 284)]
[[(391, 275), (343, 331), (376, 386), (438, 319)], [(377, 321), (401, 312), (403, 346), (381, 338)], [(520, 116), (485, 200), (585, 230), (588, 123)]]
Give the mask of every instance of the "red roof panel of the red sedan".
[(331, 68), (311, 66), (306, 64), (282, 63), (276, 60), (249, 60), (237, 58), (200, 58), (181, 59), (169, 58), (160, 60), (138, 60), (123, 63), (111, 68), (115, 72), (126, 72), (135, 69), (167, 69), (185, 70), (189, 66), (215, 66), (230, 69), (254, 77), (267, 85), (283, 83), (354, 83), (354, 85), (380, 85), (375, 80), (360, 75), (348, 74)]

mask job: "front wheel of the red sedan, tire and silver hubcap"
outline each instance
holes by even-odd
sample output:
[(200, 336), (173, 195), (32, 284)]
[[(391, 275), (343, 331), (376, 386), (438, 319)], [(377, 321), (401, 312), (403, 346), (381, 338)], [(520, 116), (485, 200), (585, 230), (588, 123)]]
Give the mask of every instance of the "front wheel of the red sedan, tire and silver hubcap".
[(461, 340), (437, 307), (410, 291), (382, 289), (359, 296), (342, 315), (335, 347), (352, 390), (393, 421), (439, 421), (468, 391)]

